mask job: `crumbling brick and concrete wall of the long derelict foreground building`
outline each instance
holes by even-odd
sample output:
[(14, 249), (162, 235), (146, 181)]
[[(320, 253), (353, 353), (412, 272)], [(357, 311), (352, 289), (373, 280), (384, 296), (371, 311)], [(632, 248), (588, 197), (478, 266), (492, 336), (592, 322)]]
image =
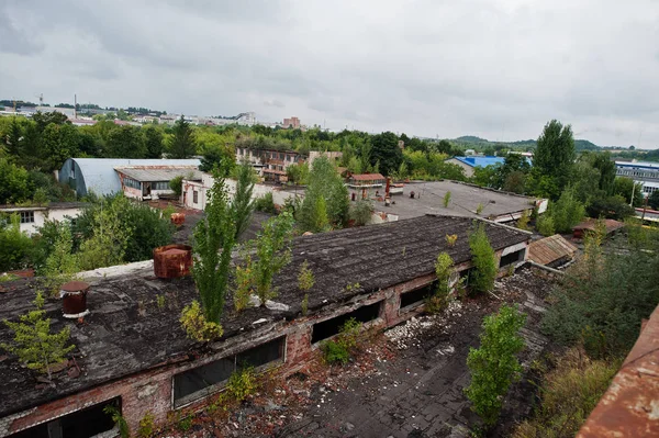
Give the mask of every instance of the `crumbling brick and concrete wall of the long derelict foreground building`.
[[(500, 250), (496, 254), (496, 257), (499, 259), (502, 255), (524, 248), (526, 248), (526, 243)], [(453, 277), (454, 283), (458, 279), (458, 271), (469, 268), (471, 268), (470, 261), (456, 266), (456, 273)], [(507, 269), (500, 270), (500, 276), (505, 274), (506, 271)], [(365, 328), (383, 329), (392, 327), (412, 316), (418, 315), (423, 311), (423, 304), (418, 304), (417, 306), (412, 305), (401, 310), (401, 294), (424, 288), (432, 284), (435, 280), (435, 274), (418, 277), (412, 281), (379, 290), (371, 294), (354, 297), (349, 303), (331, 304), (312, 315), (300, 316), (291, 322), (281, 321), (269, 323), (254, 332), (211, 344), (209, 346), (209, 350), (213, 351), (211, 355), (198, 359), (188, 356), (171, 358), (168, 364), (160, 368), (146, 370), (116, 382), (108, 383), (79, 394), (69, 395), (46, 403), (36, 408), (0, 418), (0, 437), (5, 437), (11, 433), (55, 419), (115, 397), (121, 397), (122, 414), (132, 430), (137, 429), (139, 420), (146, 414), (153, 414), (156, 423), (164, 424), (167, 422), (168, 414), (171, 412), (180, 411), (188, 413), (199, 411), (205, 407), (210, 401), (214, 400), (214, 394), (211, 394), (175, 408), (175, 374), (235, 355), (281, 336), (286, 336), (283, 361), (276, 363), (273, 367), (278, 368), (278, 373), (281, 375), (291, 374), (304, 369), (310, 363), (310, 360), (320, 353), (319, 344), (311, 344), (314, 324), (349, 313), (364, 305), (381, 301), (382, 306), (380, 308), (380, 314), (376, 319), (365, 324)], [(221, 389), (217, 389), (215, 393), (220, 391)], [(4, 429), (2, 428), (3, 426)]]

